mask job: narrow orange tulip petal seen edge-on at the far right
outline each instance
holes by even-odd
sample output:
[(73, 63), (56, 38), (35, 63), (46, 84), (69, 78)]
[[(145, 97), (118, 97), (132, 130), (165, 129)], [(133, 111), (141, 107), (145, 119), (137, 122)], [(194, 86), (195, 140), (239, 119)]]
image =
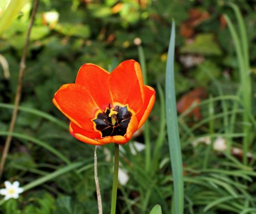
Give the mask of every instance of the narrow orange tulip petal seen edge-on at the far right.
[(148, 115), (150, 114), (150, 112), (154, 106), (155, 100), (156, 100), (156, 92), (155, 92), (154, 88), (145, 85), (144, 91), (145, 91), (145, 102), (144, 102), (143, 107), (140, 110), (140, 112), (138, 112), (136, 114), (138, 121), (139, 121), (138, 129), (145, 123)]

